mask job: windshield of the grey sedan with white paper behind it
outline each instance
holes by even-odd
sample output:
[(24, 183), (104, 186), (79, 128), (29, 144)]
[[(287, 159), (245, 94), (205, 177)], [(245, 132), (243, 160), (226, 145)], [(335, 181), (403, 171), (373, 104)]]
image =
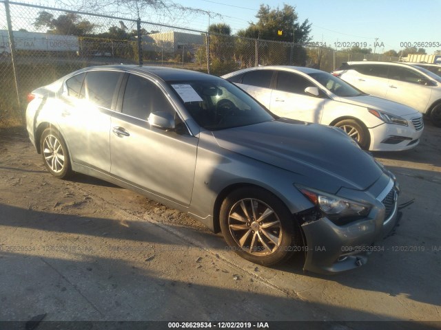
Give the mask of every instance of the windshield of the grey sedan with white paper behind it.
[(167, 81), (204, 129), (231, 129), (274, 120), (254, 98), (223, 79)]

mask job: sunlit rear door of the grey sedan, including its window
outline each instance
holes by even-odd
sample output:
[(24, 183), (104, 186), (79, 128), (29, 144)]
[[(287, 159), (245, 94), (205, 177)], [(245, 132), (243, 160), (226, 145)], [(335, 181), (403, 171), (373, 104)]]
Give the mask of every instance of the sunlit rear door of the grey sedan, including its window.
[(122, 78), (90, 71), (66, 80), (59, 124), (74, 162), (110, 172), (110, 118)]

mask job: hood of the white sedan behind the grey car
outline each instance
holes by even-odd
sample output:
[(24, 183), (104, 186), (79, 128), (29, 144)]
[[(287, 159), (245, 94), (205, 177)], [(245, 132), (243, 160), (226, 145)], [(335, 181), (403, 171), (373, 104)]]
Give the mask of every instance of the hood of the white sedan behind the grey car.
[(339, 96), (338, 101), (359, 105), (360, 107), (382, 110), (393, 115), (412, 115), (418, 113), (418, 111), (411, 107), (407, 107), (407, 105), (371, 95), (353, 96), (350, 98)]

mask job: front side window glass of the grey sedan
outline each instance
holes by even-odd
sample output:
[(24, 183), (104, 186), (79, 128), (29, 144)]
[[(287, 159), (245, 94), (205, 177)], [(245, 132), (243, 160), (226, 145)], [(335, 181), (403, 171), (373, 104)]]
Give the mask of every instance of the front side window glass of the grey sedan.
[(163, 91), (152, 81), (130, 74), (123, 98), (123, 113), (147, 120), (154, 111), (175, 113)]

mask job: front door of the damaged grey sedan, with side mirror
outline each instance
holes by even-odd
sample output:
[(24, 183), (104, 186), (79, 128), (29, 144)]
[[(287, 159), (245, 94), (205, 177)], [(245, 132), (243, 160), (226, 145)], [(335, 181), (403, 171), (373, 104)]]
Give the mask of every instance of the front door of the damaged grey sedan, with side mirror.
[[(163, 89), (153, 80), (130, 74), (123, 89), (121, 113), (112, 117), (112, 175), (189, 205), (198, 138), (190, 135)], [(150, 126), (147, 118), (154, 111), (172, 113), (179, 129), (165, 131)]]

